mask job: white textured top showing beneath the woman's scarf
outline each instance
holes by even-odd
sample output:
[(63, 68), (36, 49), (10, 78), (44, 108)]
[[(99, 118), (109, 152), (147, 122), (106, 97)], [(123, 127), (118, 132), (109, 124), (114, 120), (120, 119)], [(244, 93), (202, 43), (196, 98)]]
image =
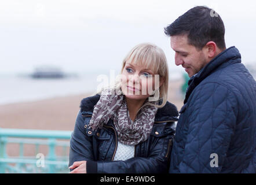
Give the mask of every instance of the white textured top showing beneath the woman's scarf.
[(116, 149), (114, 161), (125, 161), (129, 158), (134, 157), (135, 146), (134, 145), (124, 145), (118, 142), (118, 148)]

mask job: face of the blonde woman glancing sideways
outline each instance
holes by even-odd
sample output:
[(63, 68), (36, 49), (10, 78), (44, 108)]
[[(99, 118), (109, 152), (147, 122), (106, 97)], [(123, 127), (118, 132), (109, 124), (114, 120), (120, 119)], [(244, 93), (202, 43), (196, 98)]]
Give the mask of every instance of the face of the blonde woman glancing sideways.
[(158, 76), (151, 69), (126, 62), (121, 78), (122, 92), (126, 98), (147, 99), (153, 94), (153, 90), (159, 88)]

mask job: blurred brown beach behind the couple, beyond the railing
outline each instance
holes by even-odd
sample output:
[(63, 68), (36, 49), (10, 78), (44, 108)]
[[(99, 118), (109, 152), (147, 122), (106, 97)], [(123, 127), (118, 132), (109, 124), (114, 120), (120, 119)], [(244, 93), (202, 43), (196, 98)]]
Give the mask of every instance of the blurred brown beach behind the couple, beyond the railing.
[[(180, 110), (182, 80), (170, 82), (168, 100)], [(91, 93), (56, 97), (33, 102), (10, 103), (0, 105), (0, 128), (22, 129), (74, 129), (76, 115), (83, 98)]]

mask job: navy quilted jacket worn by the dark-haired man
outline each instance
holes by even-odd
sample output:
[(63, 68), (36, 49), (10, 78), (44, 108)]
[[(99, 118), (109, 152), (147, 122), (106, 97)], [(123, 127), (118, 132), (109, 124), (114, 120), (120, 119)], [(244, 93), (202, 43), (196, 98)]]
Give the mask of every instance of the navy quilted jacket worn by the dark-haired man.
[(170, 173), (255, 173), (256, 83), (229, 47), (189, 80)]

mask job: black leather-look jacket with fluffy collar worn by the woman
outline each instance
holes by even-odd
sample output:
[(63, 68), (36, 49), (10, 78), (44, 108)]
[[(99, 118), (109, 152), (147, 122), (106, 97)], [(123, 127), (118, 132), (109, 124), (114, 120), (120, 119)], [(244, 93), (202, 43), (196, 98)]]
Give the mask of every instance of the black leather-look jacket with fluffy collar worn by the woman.
[(159, 108), (151, 135), (135, 146), (134, 157), (126, 161), (113, 161), (118, 146), (118, 136), (112, 120), (102, 129), (87, 128), (94, 105), (100, 95), (81, 101), (70, 140), (70, 164), (87, 161), (87, 173), (167, 173), (175, 133), (178, 111), (167, 102)]

